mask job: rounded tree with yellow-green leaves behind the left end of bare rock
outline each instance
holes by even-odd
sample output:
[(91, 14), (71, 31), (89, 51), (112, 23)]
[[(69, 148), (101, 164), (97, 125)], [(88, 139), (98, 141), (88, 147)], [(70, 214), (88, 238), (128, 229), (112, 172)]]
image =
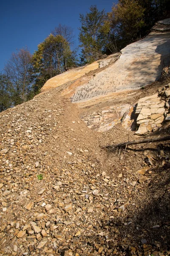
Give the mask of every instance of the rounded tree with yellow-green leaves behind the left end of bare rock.
[(37, 74), (36, 86), (40, 89), (48, 79), (74, 67), (75, 55), (62, 35), (50, 34), (34, 52), (33, 66)]

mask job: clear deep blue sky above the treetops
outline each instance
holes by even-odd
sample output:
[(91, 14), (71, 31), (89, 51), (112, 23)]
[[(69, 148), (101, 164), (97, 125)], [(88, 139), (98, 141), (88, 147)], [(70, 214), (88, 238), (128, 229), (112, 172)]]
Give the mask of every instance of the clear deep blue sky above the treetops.
[(78, 45), (79, 14), (91, 5), (111, 11), (116, 0), (3, 0), (0, 3), (0, 71), (11, 53), (25, 46), (33, 53), (59, 23), (71, 26)]

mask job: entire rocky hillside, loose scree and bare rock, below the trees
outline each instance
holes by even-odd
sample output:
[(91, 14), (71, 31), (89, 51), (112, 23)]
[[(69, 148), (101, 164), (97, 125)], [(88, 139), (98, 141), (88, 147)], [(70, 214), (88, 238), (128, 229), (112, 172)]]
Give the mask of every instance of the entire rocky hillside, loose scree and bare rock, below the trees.
[(169, 143), (104, 148), (169, 134), (169, 26), (0, 113), (1, 255), (170, 255)]

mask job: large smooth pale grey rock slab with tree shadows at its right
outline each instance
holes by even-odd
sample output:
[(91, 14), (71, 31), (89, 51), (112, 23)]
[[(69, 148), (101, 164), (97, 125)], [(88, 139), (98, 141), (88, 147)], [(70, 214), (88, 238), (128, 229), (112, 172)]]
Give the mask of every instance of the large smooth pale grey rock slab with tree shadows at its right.
[(97, 73), (88, 84), (76, 88), (71, 101), (85, 102), (146, 86), (160, 78), (163, 62), (169, 56), (170, 33), (152, 33), (122, 49), (114, 64)]

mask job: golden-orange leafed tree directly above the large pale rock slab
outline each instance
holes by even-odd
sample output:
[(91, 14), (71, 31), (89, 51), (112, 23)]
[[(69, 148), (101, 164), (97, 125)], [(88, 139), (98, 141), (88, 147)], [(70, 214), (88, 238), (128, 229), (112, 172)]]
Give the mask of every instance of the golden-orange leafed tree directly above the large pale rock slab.
[(121, 47), (141, 36), (144, 27), (144, 8), (135, 0), (119, 0), (112, 7), (112, 29)]

